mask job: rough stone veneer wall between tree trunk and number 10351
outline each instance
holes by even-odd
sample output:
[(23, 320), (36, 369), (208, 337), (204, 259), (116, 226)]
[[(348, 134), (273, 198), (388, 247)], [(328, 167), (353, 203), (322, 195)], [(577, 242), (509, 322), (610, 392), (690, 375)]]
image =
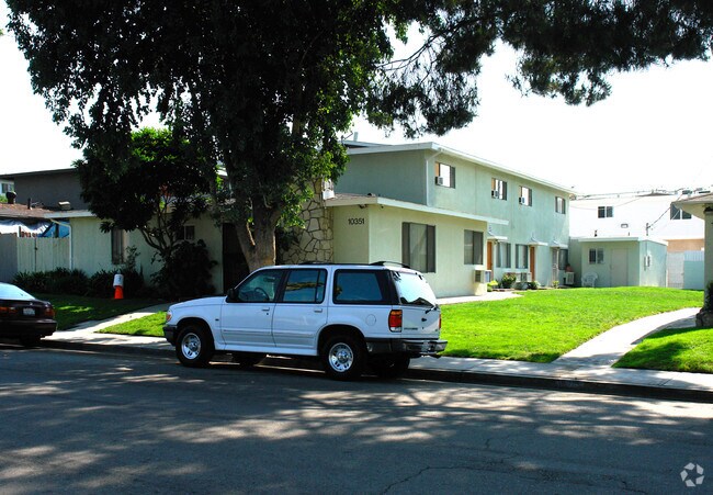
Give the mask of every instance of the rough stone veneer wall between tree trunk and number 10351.
[(321, 181), (314, 184), (315, 194), (302, 209), (304, 227), (294, 227), (296, 236), (288, 249), (281, 252), (283, 262), (297, 265), (305, 261), (332, 262), (335, 259), (332, 212), (325, 207)]

